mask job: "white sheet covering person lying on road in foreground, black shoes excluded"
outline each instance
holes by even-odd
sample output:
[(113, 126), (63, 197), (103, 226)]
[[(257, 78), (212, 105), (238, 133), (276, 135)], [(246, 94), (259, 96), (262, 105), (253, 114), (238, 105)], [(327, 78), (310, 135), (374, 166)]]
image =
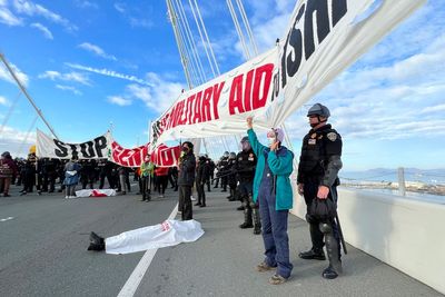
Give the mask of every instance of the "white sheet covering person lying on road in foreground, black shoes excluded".
[(169, 219), (162, 224), (108, 237), (105, 239), (105, 246), (107, 254), (130, 254), (196, 241), (202, 235), (199, 221)]

